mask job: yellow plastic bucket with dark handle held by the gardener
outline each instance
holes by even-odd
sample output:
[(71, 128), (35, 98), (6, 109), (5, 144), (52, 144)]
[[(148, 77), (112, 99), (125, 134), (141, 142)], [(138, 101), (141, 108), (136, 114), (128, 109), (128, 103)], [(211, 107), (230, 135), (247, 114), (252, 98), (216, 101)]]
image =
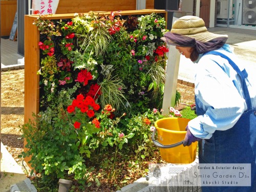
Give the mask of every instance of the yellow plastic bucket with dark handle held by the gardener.
[(192, 163), (196, 159), (197, 141), (189, 146), (183, 146), (186, 135), (185, 128), (190, 119), (167, 117), (155, 122), (158, 133), (156, 141), (155, 133), (152, 134), (154, 144), (160, 147), (160, 155), (168, 163)]

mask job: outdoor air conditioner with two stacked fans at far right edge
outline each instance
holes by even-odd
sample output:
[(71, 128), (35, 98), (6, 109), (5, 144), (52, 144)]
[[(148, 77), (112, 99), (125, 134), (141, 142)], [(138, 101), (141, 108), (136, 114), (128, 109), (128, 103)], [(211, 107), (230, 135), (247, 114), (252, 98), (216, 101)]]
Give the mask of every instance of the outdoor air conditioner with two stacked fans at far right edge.
[(256, 25), (256, 0), (243, 1), (243, 24)]

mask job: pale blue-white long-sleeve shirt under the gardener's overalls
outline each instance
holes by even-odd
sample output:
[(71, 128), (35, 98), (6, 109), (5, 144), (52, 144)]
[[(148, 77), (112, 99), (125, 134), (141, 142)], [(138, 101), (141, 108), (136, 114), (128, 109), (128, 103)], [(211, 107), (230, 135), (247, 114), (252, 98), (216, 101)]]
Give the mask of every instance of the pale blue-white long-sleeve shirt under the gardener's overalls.
[[(243, 71), (243, 63), (223, 48), (216, 50), (228, 56)], [(256, 72), (248, 71), (246, 84), (252, 108), (256, 107)], [(190, 132), (198, 138), (209, 139), (216, 130), (230, 129), (247, 110), (240, 76), (228, 61), (218, 55), (205, 55), (198, 61), (195, 76), (197, 104), (205, 111), (189, 121)], [(242, 128), (242, 127), (241, 127)]]

